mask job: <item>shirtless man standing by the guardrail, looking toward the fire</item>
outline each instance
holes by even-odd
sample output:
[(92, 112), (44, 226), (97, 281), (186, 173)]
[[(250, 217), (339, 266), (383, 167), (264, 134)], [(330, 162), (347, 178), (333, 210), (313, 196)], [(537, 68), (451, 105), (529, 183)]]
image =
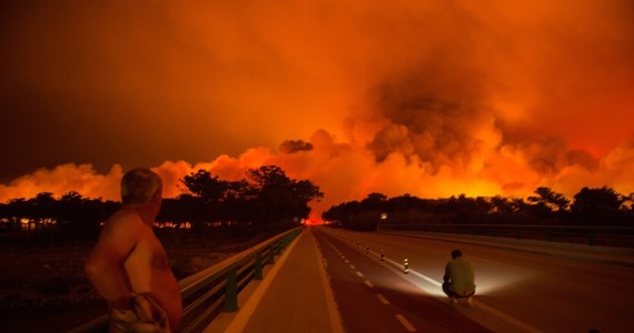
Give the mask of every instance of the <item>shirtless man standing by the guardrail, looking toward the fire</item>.
[(180, 289), (152, 231), (161, 191), (162, 182), (152, 171), (133, 169), (126, 173), (121, 209), (106, 221), (86, 261), (88, 279), (110, 309), (109, 332), (135, 332), (135, 327), (148, 325), (151, 332), (178, 327)]

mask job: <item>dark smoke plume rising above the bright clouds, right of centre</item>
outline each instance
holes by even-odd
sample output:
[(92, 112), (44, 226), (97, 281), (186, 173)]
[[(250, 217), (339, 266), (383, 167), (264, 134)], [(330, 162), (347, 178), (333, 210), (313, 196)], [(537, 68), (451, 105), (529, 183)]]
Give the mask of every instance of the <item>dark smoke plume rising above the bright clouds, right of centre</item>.
[[(444, 165), (469, 164), (502, 140), (495, 114), (478, 91), (484, 82), (468, 71), (444, 72), (443, 59), (388, 78), (375, 90), (374, 109), (388, 123), (368, 145), (383, 161), (390, 152)], [(456, 65), (457, 67), (457, 65)]]

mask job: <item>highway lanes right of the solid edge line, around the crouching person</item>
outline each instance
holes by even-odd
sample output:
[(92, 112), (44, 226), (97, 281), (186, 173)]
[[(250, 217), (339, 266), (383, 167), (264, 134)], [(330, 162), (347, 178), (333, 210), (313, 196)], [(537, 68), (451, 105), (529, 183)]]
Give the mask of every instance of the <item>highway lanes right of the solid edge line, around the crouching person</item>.
[[(631, 254), (586, 259), (576, 250), (328, 228), (314, 235), (346, 332), (634, 332)], [(472, 307), (448, 303), (440, 289), (453, 249), (476, 270)]]

